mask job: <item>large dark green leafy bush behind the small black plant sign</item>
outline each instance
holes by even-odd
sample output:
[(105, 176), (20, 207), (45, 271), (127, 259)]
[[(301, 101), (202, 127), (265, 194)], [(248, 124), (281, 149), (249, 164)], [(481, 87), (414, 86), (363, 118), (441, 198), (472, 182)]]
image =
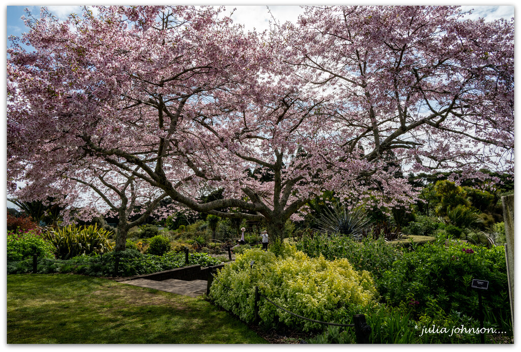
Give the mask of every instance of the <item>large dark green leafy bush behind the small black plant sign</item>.
[(393, 306), (418, 301), (418, 317), (451, 310), (478, 318), (478, 295), (473, 279), (489, 281), (483, 302), (497, 315), (510, 312), (506, 263), (502, 246), (486, 247), (450, 242), (448, 246), (425, 244), (404, 253), (383, 273), (378, 289)]

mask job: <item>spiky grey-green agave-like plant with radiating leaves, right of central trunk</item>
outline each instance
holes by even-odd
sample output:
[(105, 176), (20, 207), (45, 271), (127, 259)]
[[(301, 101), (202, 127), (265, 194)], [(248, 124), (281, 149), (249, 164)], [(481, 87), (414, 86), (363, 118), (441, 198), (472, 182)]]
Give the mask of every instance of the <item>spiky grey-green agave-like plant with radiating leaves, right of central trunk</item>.
[(351, 210), (344, 206), (325, 209), (317, 221), (318, 231), (325, 234), (339, 233), (352, 236), (355, 240), (361, 239), (370, 229), (371, 221), (366, 217), (364, 208), (356, 207)]

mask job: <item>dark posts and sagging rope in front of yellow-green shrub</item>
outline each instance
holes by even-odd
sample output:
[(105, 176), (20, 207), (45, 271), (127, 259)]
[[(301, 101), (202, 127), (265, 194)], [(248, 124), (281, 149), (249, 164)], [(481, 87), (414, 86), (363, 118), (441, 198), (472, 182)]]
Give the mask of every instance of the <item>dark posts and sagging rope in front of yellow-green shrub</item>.
[[(207, 287), (206, 287), (206, 295), (209, 295), (210, 294), (210, 287), (212, 286), (212, 283), (213, 283), (213, 280), (215, 279), (218, 283), (220, 283), (221, 285), (224, 286), (224, 283), (220, 282), (219, 279), (217, 278), (217, 276), (214, 275), (213, 273), (213, 267), (210, 267), (209, 268), (209, 271), (208, 271), (208, 284), (207, 284)], [(230, 290), (231, 288), (228, 287), (228, 289)], [(254, 315), (254, 322), (255, 323), (258, 323), (260, 321), (260, 318), (259, 318), (259, 315), (258, 315), (258, 312), (259, 312), (259, 301), (261, 300), (261, 298), (264, 298), (266, 299), (270, 304), (274, 305), (275, 307), (277, 307), (278, 309), (281, 309), (287, 313), (289, 313), (290, 315), (292, 316), (295, 316), (297, 318), (300, 318), (300, 319), (304, 319), (304, 320), (307, 320), (307, 321), (311, 321), (311, 322), (314, 322), (314, 323), (319, 323), (319, 324), (322, 324), (322, 325), (331, 325), (331, 326), (341, 326), (341, 327), (344, 327), (344, 328), (354, 328), (355, 329), (355, 336), (356, 336), (356, 342), (358, 344), (368, 344), (369, 343), (369, 335), (371, 333), (371, 327), (367, 324), (366, 322), (366, 319), (365, 319), (365, 315), (363, 314), (356, 314), (353, 316), (353, 324), (340, 324), (340, 323), (332, 323), (332, 322), (326, 322), (326, 321), (320, 321), (320, 320), (316, 320), (316, 319), (311, 319), (311, 318), (307, 318), (307, 317), (303, 317), (295, 312), (292, 312), (284, 307), (281, 307), (279, 306), (278, 304), (276, 304), (274, 301), (272, 301), (271, 299), (269, 299), (268, 297), (264, 296), (263, 294), (261, 294), (259, 292), (259, 288), (258, 286), (255, 286), (255, 300), (254, 300), (254, 311), (253, 311), (253, 315)]]

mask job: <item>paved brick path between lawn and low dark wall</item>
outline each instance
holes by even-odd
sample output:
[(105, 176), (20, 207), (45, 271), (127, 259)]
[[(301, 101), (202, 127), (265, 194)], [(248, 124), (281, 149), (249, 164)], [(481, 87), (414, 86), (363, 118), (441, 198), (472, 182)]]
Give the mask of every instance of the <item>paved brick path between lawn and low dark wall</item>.
[(163, 281), (147, 280), (147, 279), (135, 279), (128, 281), (121, 281), (123, 284), (129, 284), (133, 286), (155, 288), (159, 291), (177, 293), (178, 295), (197, 297), (206, 293), (206, 280), (177, 280), (167, 279)]

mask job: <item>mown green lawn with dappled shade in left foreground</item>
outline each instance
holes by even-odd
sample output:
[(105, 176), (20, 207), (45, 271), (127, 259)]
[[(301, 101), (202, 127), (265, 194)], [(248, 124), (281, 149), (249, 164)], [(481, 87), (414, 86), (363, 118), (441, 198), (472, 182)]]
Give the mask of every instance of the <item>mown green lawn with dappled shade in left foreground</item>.
[(7, 275), (9, 344), (267, 343), (191, 298), (89, 276)]

